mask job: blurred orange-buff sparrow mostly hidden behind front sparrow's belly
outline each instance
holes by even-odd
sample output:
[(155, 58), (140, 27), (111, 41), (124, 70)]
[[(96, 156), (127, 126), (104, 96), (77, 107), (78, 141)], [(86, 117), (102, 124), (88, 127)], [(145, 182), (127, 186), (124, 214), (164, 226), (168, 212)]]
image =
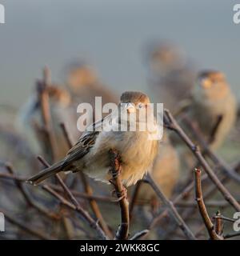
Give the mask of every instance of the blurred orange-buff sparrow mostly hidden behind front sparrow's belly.
[[(154, 182), (158, 184), (167, 198), (173, 193), (179, 178), (178, 153), (171, 145), (166, 131), (161, 142), (158, 142), (158, 154), (154, 159), (153, 168), (150, 170)], [(138, 199), (144, 201), (155, 201), (156, 193), (147, 184), (142, 184), (139, 190)]]

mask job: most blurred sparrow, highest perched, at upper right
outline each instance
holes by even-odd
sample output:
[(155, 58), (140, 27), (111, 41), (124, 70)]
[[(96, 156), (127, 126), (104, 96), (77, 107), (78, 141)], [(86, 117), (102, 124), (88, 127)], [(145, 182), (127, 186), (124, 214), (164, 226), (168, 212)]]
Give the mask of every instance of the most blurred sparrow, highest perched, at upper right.
[(176, 46), (162, 43), (150, 52), (149, 73), (158, 102), (175, 114), (190, 98), (196, 76), (193, 66)]

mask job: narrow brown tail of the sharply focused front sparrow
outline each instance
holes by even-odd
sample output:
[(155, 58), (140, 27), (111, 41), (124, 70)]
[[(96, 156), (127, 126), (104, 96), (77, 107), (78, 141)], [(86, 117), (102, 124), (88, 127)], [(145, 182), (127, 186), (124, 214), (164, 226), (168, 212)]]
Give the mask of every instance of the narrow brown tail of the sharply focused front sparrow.
[(38, 183), (46, 180), (46, 178), (50, 178), (50, 176), (54, 174), (58, 174), (62, 171), (62, 164), (64, 161), (56, 162), (54, 165), (40, 171), (38, 174), (29, 178), (26, 182), (30, 182), (30, 184), (38, 185)]

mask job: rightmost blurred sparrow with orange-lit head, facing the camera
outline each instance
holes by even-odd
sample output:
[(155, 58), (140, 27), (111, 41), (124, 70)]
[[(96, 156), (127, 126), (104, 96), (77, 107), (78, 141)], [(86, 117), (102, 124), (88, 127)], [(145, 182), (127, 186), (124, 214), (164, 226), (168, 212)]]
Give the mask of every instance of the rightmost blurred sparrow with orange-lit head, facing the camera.
[(198, 75), (189, 116), (198, 124), (206, 141), (216, 129), (210, 146), (212, 149), (221, 146), (237, 117), (236, 100), (222, 72), (209, 70)]

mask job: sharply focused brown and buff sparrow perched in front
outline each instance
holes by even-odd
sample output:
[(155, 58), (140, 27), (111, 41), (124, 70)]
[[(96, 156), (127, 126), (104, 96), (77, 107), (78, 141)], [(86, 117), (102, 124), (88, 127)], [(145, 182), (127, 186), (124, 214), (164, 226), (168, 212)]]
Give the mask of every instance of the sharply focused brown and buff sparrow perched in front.
[[(121, 96), (117, 115), (114, 112), (103, 118), (101, 122), (96, 122), (93, 125), (94, 130), (86, 130), (75, 146), (68, 152), (66, 158), (34, 175), (34, 177), (29, 179), (29, 182), (38, 184), (61, 171), (83, 171), (91, 178), (102, 182), (109, 182), (109, 150), (114, 149), (118, 150), (118, 153), (121, 155), (122, 171), (120, 177), (123, 184), (125, 186), (135, 184), (150, 169), (158, 150), (158, 141), (150, 139), (152, 133), (158, 133), (158, 126), (154, 123), (154, 130), (138, 130), (140, 126), (139, 110), (144, 108), (148, 110), (146, 111), (147, 114), (153, 114), (149, 103), (150, 99), (146, 94), (126, 91)], [(127, 119), (125, 121), (127, 126), (129, 126), (130, 114), (134, 113), (136, 116), (134, 121), (137, 128), (136, 131), (118, 130), (118, 127), (123, 122), (122, 111), (126, 112), (126, 110), (127, 114), (125, 117)], [(119, 113), (121, 118), (119, 118)], [(117, 119), (115, 119), (116, 117)], [(117, 121), (113, 122), (114, 120)], [(102, 126), (104, 122), (111, 123), (111, 129), (109, 131), (98, 131), (97, 128)]]

